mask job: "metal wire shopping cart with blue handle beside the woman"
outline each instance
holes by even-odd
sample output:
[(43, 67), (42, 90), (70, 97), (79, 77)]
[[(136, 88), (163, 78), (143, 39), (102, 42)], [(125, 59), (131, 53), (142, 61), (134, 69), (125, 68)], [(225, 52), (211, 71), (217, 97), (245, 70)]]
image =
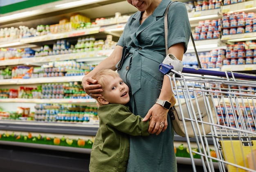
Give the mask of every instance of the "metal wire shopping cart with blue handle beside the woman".
[[(192, 124), (195, 137), (185, 137), (189, 154), (193, 155), (193, 171), (197, 171), (195, 157), (199, 157), (205, 172), (256, 172), (256, 75), (193, 68), (183, 68), (181, 73), (165, 64), (160, 64), (159, 70), (170, 78), (186, 133), (191, 132), (186, 122)], [(205, 101), (191, 105), (199, 95)], [(217, 122), (205, 122), (195, 114), (201, 108), (210, 109), (206, 97), (213, 100)], [(186, 109), (181, 108), (182, 102)], [(214, 114), (209, 111), (207, 115), (212, 119)], [(209, 125), (210, 133), (200, 131)]]

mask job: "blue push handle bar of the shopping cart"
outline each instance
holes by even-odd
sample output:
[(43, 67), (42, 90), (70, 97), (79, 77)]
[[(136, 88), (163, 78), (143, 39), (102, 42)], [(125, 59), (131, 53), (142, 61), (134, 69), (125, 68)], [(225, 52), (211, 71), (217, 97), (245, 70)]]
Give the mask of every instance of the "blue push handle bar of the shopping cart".
[[(160, 63), (159, 65), (159, 71), (163, 74), (169, 74), (173, 70), (172, 65), (166, 65), (164, 63)], [(230, 78), (239, 78), (239, 79), (247, 79), (247, 80), (254, 80), (256, 81), (256, 75), (248, 75), (248, 74), (242, 74), (242, 73), (234, 73), (234, 72), (223, 72), (223, 71), (213, 71), (213, 70), (206, 70), (206, 69), (198, 69), (198, 68), (188, 68), (183, 67), (182, 70), (183, 73), (188, 74), (200, 74), (200, 75), (210, 75), (210, 76), (222, 76)]]

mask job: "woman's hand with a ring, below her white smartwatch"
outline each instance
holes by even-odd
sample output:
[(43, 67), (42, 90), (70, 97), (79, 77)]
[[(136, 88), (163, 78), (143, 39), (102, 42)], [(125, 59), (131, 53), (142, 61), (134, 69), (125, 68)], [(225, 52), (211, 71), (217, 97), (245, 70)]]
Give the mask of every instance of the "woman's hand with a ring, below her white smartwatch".
[(147, 121), (150, 118), (148, 132), (159, 135), (165, 131), (168, 126), (167, 114), (168, 110), (164, 109), (161, 105), (153, 105), (143, 119), (143, 121)]

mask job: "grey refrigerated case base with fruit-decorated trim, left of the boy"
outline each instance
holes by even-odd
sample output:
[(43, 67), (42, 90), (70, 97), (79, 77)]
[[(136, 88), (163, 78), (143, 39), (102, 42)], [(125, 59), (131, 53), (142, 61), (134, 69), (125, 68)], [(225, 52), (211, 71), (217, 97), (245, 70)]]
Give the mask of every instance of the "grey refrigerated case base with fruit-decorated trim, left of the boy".
[[(71, 123), (71, 122), (45, 122), (45, 121), (17, 121), (17, 120), (0, 120), (0, 132), (9, 133), (6, 137), (15, 137), (15, 135), (27, 135), (31, 133), (35, 142), (24, 142), (24, 140), (0, 140), (0, 144), (9, 144), (13, 146), (25, 146), (30, 148), (43, 148), (61, 151), (85, 151), (90, 153), (90, 148), (79, 148), (75, 145), (54, 145), (54, 137), (65, 137), (65, 139), (77, 140), (79, 138), (88, 140), (95, 137), (99, 124), (95, 123)], [(39, 137), (39, 138), (38, 138)], [(49, 142), (42, 142), (43, 137), (49, 137)], [(42, 139), (42, 140), (41, 140)], [(41, 141), (39, 141), (41, 140)], [(66, 150), (67, 149), (67, 150)]]

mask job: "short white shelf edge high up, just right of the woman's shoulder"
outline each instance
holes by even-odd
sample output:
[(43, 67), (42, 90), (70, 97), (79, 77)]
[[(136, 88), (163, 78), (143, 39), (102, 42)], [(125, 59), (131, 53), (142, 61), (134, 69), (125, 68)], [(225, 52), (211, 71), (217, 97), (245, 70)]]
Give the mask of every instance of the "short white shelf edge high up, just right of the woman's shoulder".
[(202, 20), (218, 20), (222, 18), (220, 9), (193, 11), (188, 13), (188, 15), (191, 27), (198, 26), (198, 22)]

